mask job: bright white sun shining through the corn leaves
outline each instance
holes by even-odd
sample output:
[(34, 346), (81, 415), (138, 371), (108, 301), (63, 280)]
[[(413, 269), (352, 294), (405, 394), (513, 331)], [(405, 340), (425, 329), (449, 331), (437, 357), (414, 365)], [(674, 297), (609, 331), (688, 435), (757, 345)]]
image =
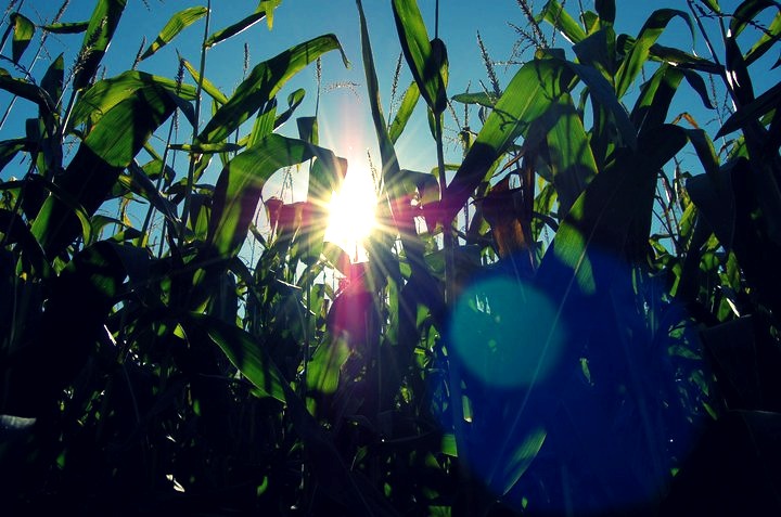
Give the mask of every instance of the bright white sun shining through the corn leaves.
[(376, 229), (376, 203), (374, 182), (366, 169), (347, 172), (331, 197), (325, 241), (344, 249), (353, 262), (367, 260), (363, 242)]

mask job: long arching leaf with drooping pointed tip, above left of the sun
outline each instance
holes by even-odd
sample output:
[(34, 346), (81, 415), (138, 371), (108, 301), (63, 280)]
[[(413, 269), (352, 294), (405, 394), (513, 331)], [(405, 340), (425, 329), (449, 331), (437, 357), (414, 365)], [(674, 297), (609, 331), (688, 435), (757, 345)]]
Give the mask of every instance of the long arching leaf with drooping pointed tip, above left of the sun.
[(242, 81), (229, 101), (220, 106), (199, 134), (201, 143), (225, 140), (247, 118), (272, 99), (287, 80), (325, 52), (338, 50), (348, 66), (342, 46), (333, 35), (320, 36), (297, 44), (257, 65)]

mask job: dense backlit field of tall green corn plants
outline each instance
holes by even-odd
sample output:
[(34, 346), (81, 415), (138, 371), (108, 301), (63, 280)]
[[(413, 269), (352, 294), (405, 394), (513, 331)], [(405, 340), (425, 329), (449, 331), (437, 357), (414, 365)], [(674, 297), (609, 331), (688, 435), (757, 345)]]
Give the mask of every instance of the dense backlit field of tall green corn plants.
[[(126, 0), (44, 26), (14, 3), (0, 109), (36, 115), (0, 142), (0, 513), (781, 515), (781, 85), (752, 85), (779, 77), (777, 2), (625, 35), (613, 0), (518, 1), (512, 79), (486, 55), (470, 91), (393, 0), (413, 81), (388, 118), (361, 0), (360, 48), (302, 41), (229, 94), (206, 50), (280, 0), (228, 27), (182, 5), (108, 77)], [(185, 30), (200, 65), (144, 72)], [(47, 35), (79, 50), (30, 73)], [(359, 263), (323, 241), (349, 164), (305, 90), (278, 99), (327, 53), (361, 57), (380, 150)], [(412, 171), (421, 107), (437, 163)], [(306, 202), (264, 192), (299, 164)]]

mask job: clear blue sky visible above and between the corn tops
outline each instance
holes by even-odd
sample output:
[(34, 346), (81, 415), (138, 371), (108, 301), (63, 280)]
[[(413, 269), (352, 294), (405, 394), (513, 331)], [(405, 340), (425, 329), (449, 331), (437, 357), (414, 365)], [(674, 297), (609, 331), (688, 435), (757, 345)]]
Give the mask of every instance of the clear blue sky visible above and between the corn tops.
[[(49, 22), (62, 4), (59, 0), (17, 0), (22, 3), (21, 11), (36, 23)], [(129, 0), (128, 7), (120, 23), (113, 46), (104, 61), (106, 75), (112, 76), (128, 69), (145, 36), (148, 43), (154, 40), (157, 33), (168, 21), (171, 14), (187, 7), (206, 4), (205, 0)], [(545, 2), (533, 2), (538, 11)], [(592, 0), (581, 0), (585, 9), (593, 9)], [(663, 2), (635, 2), (618, 1), (617, 31), (637, 35), (648, 15), (654, 9), (669, 7), (686, 10), (684, 0), (667, 0)], [(721, 1), (722, 9), (729, 11), (739, 2)], [(243, 16), (249, 14), (257, 2), (240, 0), (214, 0), (212, 31), (223, 28)], [(390, 101), (390, 85), (394, 67), (400, 48), (390, 11), (390, 2), (386, 0), (364, 0), (370, 36), (377, 63), (380, 86), (382, 89), (384, 108), (387, 109)], [(434, 34), (434, 0), (420, 0), (421, 11), (426, 18), (430, 35)], [(76, 22), (89, 18), (94, 0), (72, 0), (63, 17), (65, 22)], [(569, 10), (575, 9), (577, 2), (569, 1)], [(448, 94), (452, 95), (465, 91), (472, 83), (472, 91), (481, 87), (478, 80), (487, 83), (485, 68), (476, 43), (476, 34), (481, 33), (486, 47), (496, 61), (504, 61), (511, 56), (513, 44), (516, 41), (515, 30), (508, 24), (514, 23), (525, 27), (525, 18), (515, 0), (487, 0), (483, 2), (466, 0), (440, 0), (439, 2), (439, 37), (445, 40), (450, 56), (450, 86)], [(5, 21), (3, 23), (3, 29)], [(341, 40), (348, 59), (353, 63), (350, 69), (345, 69), (337, 53), (330, 53), (323, 59), (323, 93), (320, 105), (321, 143), (333, 148), (337, 154), (363, 160), (366, 150), (371, 150), (375, 163), (379, 163), (379, 153), (370, 122), (370, 109), (367, 101), (362, 64), (360, 60), (359, 26), (356, 4), (354, 0), (283, 0), (274, 15), (273, 30), (269, 31), (261, 22), (251, 29), (234, 37), (230, 41), (218, 44), (208, 53), (206, 76), (215, 82), (226, 94), (232, 92), (241, 80), (243, 66), (244, 43), (249, 46), (251, 66), (268, 59), (291, 46), (325, 33), (334, 33)], [(176, 50), (193, 64), (199, 63), (199, 47), (203, 36), (203, 21), (192, 25), (182, 33), (166, 49), (146, 60), (140, 69), (174, 77), (177, 68)], [(662, 42), (674, 44), (683, 50), (691, 50), (691, 38), (682, 21), (674, 21)], [(66, 52), (66, 65), (73, 64), (74, 54), (81, 44), (81, 35), (50, 36), (47, 41), (48, 52), (54, 56), (61, 51)], [(566, 42), (559, 38), (556, 44), (566, 47)], [(23, 64), (30, 65), (36, 51), (36, 43), (27, 50)], [(696, 50), (701, 55), (707, 56), (702, 38), (697, 35)], [(10, 43), (3, 49), (3, 54), (10, 53)], [(524, 57), (528, 59), (529, 53)], [(42, 54), (40, 62), (35, 65), (33, 75), (40, 78), (46, 70), (49, 59)], [(9, 68), (5, 62), (0, 66)], [(516, 67), (498, 66), (499, 80), (502, 86), (512, 77)], [(776, 82), (778, 75), (764, 76)], [(408, 72), (399, 81), (399, 94), (411, 81)], [(355, 83), (354, 90), (349, 88), (335, 88), (340, 83)], [(295, 88), (307, 90), (307, 101), (299, 107), (297, 115), (312, 115), (315, 107), (315, 67), (304, 70), (291, 81), (280, 95), (280, 103), (284, 105), (286, 94)], [(760, 88), (761, 89), (761, 88)], [(684, 96), (679, 102), (679, 111), (689, 111), (695, 114), (704, 124), (713, 115), (699, 108), (700, 101), (691, 94), (688, 87), (682, 87)], [(4, 111), (10, 102), (7, 92), (0, 92), (0, 109)], [(25, 102), (17, 102), (5, 126), (0, 130), (0, 140), (20, 137), (24, 131), (24, 118), (30, 116), (26, 111)], [(400, 165), (404, 168), (431, 170), (436, 164), (435, 147), (428, 132), (427, 121), (420, 103), (418, 113), (406, 133), (398, 143), (397, 152)], [(675, 109), (675, 108), (674, 108)], [(676, 113), (673, 114), (675, 116)], [(462, 109), (459, 109), (462, 116)], [(476, 118), (476, 113), (472, 113)], [(446, 119), (446, 131), (453, 134), (456, 125), (450, 117)], [(289, 122), (282, 130), (286, 134), (295, 134), (295, 124)], [(182, 131), (180, 139), (185, 142), (187, 132)], [(456, 160), (459, 152), (450, 146), (449, 156)], [(11, 167), (10, 167), (11, 168)], [(2, 172), (8, 178), (8, 168)]]

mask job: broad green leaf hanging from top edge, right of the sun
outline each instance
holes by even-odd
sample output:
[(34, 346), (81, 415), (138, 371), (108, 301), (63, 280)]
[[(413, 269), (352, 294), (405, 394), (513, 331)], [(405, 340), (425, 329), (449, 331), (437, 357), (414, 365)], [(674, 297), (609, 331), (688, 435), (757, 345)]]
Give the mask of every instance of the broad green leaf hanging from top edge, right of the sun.
[(407, 64), (428, 107), (440, 114), (447, 107), (443, 60), (434, 52), (417, 0), (394, 0), (394, 20)]

